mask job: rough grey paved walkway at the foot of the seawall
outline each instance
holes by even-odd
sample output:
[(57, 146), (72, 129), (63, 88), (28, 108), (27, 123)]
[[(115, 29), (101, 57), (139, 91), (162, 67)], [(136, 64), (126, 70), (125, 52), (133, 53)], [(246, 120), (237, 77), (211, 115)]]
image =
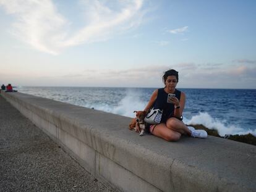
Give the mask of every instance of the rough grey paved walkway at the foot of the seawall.
[(114, 191), (0, 95), (0, 191)]

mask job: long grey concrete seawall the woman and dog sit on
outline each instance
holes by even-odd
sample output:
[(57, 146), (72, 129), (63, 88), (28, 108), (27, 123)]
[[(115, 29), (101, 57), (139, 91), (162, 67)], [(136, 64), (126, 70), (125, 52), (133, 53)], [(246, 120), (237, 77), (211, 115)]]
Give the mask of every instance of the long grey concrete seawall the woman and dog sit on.
[(130, 118), (22, 93), (1, 93), (95, 177), (120, 191), (256, 191), (256, 148), (209, 136), (167, 142)]

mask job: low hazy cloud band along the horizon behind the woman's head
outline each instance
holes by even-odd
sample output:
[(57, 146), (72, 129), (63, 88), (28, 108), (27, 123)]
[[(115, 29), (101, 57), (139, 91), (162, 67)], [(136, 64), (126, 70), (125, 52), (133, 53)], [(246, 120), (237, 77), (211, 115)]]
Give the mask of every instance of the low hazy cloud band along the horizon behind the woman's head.
[[(206, 65), (208, 66), (208, 64)], [(234, 69), (233, 65), (216, 64), (215, 68), (208, 69), (205, 64), (195, 64), (194, 62), (151, 65), (124, 70), (85, 70), (59, 77), (59, 81), (63, 82), (66, 77), (72, 77), (70, 81), (75, 81), (81, 86), (84, 86), (85, 83), (90, 86), (105, 86), (102, 83), (106, 83), (106, 86), (161, 87), (163, 86), (161, 80), (163, 72), (169, 69), (176, 69), (179, 72), (179, 87), (183, 88), (255, 88), (256, 67), (249, 68), (240, 65)]]

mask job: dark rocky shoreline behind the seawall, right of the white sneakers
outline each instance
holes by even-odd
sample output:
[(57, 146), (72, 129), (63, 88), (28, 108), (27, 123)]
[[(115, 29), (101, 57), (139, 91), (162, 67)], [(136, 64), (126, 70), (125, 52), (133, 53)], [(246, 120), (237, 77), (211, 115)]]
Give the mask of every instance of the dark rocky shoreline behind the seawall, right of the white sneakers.
[(238, 141), (242, 143), (247, 143), (247, 144), (253, 144), (256, 145), (256, 137), (252, 134), (247, 134), (247, 135), (225, 135), (225, 136), (220, 136), (217, 130), (212, 130), (210, 128), (207, 128), (203, 125), (193, 125), (190, 124), (189, 126), (194, 127), (195, 129), (203, 129), (207, 131), (208, 135), (211, 136), (218, 136), (220, 138), (228, 139), (228, 140), (233, 140), (233, 141)]

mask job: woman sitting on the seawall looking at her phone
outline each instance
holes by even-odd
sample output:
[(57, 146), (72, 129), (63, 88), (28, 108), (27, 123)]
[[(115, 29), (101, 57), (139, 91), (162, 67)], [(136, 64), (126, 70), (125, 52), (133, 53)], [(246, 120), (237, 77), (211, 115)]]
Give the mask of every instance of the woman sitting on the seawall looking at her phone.
[[(193, 127), (187, 127), (182, 122), (182, 112), (185, 107), (185, 93), (176, 90), (179, 81), (179, 74), (176, 70), (171, 69), (164, 72), (164, 88), (155, 90), (151, 95), (150, 101), (144, 111), (153, 109), (162, 109), (163, 114), (161, 122), (156, 125), (147, 127), (151, 134), (163, 138), (167, 141), (177, 141), (182, 134), (192, 137), (207, 138), (207, 131), (195, 130)], [(168, 94), (175, 94), (175, 97), (168, 100)]]

